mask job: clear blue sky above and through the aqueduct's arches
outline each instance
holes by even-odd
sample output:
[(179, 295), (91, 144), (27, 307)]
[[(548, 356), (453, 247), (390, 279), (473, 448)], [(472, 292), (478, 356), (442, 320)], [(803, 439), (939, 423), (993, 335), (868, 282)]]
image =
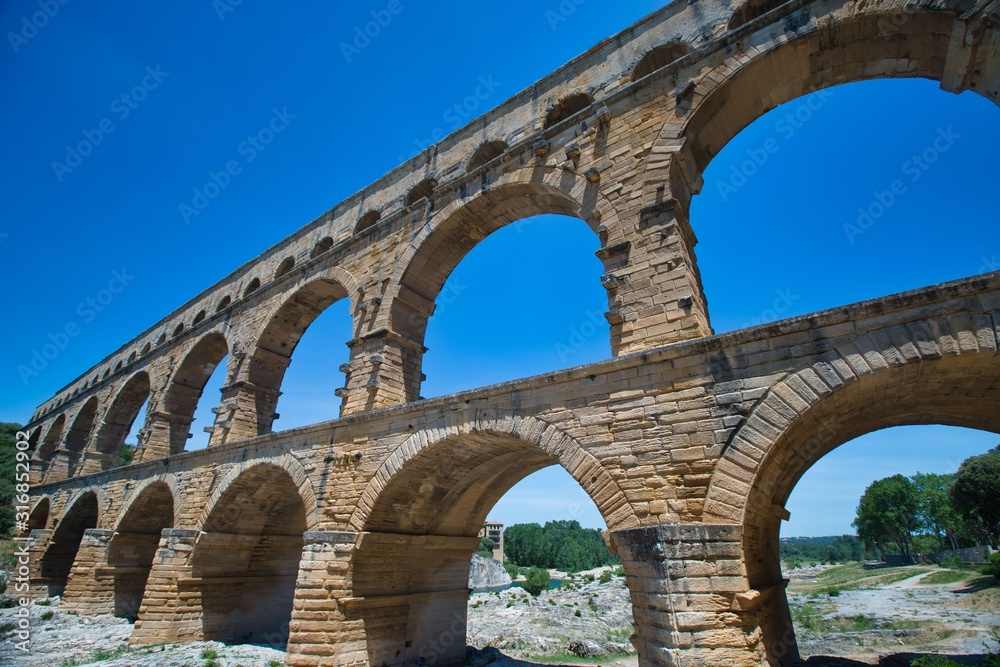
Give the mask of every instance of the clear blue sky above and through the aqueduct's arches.
[[(0, 256), (10, 268), (0, 419), (28, 419), (174, 307), (452, 129), (450, 110), (481, 77), (497, 87), (476, 114), (660, 6), (589, 0), (553, 29), (547, 12), (559, 4), (401, 0), (402, 11), (348, 62), (340, 43), (387, 2), (242, 2), (221, 16), (221, 1), (70, 3), (34, 33), (22, 18), (38, 11), (35, 2), (3, 3)], [(26, 37), (12, 44), (12, 32)], [(705, 174), (691, 218), (716, 331), (1000, 268), (996, 107), (919, 80), (830, 92), (811, 99), (794, 132), (779, 123), (803, 117), (807, 100), (761, 118)], [(241, 142), (275, 109), (287, 127), (186, 224), (179, 206), (210, 171), (246, 158)], [(950, 143), (935, 164), (907, 180), (863, 234), (845, 232), (875, 191), (912, 178), (907, 161), (939, 132)], [(96, 145), (77, 163), (66, 147), (87, 137)], [(733, 180), (733, 168), (765, 145), (766, 162), (745, 183)], [(599, 317), (582, 347), (566, 355), (560, 345), (606, 308), (596, 247), (582, 223), (554, 217), (482, 243), (452, 275), (430, 325), (424, 395), (606, 358)], [(132, 276), (127, 287), (101, 312), (81, 315), (79, 304), (114, 271)], [(22, 381), (18, 365), (69, 323), (81, 333)], [(336, 415), (349, 335), (344, 304), (309, 330), (286, 376), (279, 428)], [(203, 446), (218, 382), (206, 391), (193, 447)], [(784, 534), (848, 532), (872, 480), (953, 468), (959, 455), (998, 441), (940, 428), (868, 436), (808, 473)], [(601, 524), (557, 469), (522, 482), (493, 513), (507, 523), (567, 516)]]

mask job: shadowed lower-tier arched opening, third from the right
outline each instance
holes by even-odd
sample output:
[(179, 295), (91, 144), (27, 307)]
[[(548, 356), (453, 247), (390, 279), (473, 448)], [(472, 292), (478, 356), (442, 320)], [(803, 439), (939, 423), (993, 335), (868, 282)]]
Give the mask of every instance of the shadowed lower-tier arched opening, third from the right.
[(285, 647), (305, 531), (305, 505), (285, 470), (255, 466), (225, 490), (191, 557), (205, 639)]

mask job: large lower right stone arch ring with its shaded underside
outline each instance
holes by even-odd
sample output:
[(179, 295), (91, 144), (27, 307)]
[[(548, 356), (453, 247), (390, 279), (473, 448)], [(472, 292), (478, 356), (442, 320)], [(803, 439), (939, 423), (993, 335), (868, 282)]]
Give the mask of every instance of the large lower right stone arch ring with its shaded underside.
[(802, 475), (840, 445), (892, 426), (1000, 433), (1000, 356), (987, 321), (941, 318), (869, 334), (774, 386), (716, 466), (705, 520), (742, 527), (747, 583), (772, 665), (796, 657), (778, 556), (784, 505)]

